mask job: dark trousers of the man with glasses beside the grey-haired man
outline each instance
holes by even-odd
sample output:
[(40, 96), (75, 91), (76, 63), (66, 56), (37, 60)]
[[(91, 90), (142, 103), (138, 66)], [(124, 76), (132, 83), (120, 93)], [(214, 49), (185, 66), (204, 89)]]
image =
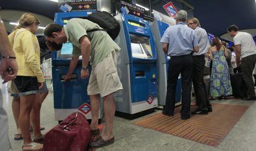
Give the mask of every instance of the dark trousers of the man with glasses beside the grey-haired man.
[(205, 55), (193, 56), (193, 86), (195, 99), (200, 110), (208, 110), (210, 100), (207, 86), (203, 82), (203, 68), (205, 68)]

